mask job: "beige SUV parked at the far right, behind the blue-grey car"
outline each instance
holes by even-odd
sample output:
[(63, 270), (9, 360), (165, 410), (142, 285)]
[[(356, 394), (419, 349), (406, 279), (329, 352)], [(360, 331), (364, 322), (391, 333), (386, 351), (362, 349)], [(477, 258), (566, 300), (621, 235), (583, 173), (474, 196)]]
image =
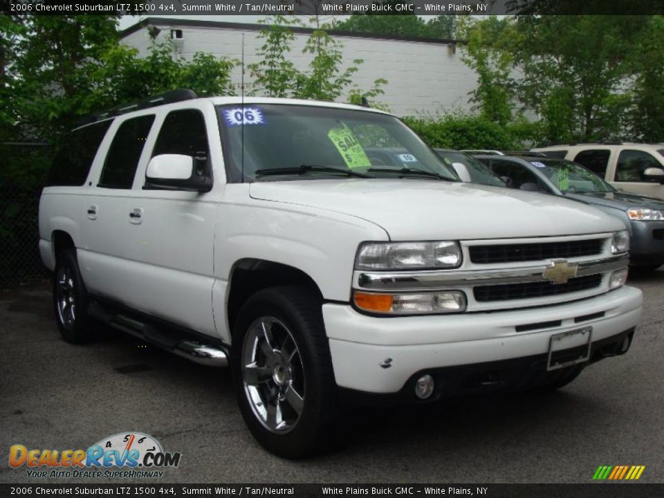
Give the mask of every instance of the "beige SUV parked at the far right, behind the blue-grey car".
[(664, 199), (664, 144), (555, 145), (533, 151), (584, 165), (618, 190)]

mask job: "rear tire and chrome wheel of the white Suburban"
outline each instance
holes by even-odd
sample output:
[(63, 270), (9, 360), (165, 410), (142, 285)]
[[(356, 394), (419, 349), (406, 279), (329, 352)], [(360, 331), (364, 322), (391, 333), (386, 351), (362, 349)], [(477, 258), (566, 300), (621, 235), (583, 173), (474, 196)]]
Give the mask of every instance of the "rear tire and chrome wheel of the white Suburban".
[(94, 340), (87, 313), (89, 303), (74, 249), (57, 255), (53, 273), (53, 307), (57, 328), (66, 342), (81, 344)]

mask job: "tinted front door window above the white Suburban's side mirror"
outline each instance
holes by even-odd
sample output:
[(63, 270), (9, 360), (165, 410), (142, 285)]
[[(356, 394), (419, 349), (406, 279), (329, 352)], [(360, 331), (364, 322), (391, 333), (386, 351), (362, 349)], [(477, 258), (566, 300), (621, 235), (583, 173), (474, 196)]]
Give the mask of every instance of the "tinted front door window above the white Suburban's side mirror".
[(208, 156), (208, 133), (203, 113), (196, 109), (169, 112), (162, 124), (152, 156), (183, 154)]

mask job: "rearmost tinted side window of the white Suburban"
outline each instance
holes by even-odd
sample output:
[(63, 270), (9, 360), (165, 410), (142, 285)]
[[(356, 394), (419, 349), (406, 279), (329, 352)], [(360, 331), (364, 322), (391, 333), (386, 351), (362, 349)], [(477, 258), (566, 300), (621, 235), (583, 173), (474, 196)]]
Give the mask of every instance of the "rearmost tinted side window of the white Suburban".
[(46, 186), (83, 185), (112, 121), (98, 122), (68, 133), (55, 154)]

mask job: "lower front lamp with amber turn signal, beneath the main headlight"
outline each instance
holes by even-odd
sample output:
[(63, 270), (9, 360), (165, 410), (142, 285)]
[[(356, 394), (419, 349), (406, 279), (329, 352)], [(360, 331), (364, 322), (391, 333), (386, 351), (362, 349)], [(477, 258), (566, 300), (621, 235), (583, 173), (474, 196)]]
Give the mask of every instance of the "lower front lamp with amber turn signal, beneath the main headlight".
[(381, 315), (461, 313), (466, 307), (465, 294), (461, 291), (398, 294), (355, 291), (353, 302), (362, 311)]

